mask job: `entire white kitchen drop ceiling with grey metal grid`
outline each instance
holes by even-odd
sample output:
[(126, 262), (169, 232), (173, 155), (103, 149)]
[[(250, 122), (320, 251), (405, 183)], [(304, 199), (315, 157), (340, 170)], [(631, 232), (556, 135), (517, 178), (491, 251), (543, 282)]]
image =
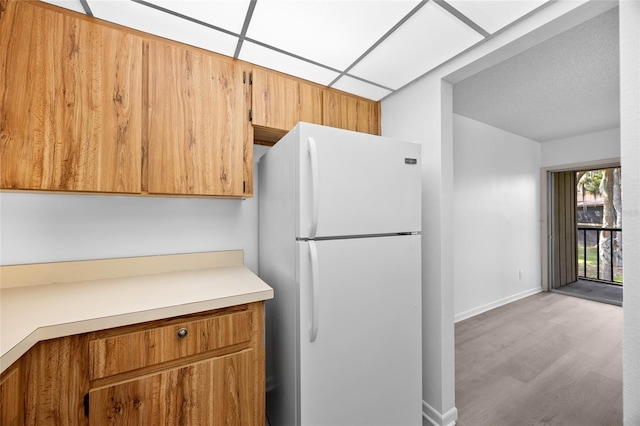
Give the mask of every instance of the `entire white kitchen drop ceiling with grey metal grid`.
[(377, 101), (549, 0), (43, 1)]

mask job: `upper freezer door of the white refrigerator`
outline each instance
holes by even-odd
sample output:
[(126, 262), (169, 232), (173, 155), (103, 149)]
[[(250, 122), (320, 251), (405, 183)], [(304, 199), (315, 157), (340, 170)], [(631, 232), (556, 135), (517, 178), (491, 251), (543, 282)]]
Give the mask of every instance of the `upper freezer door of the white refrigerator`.
[(299, 123), (298, 238), (421, 229), (421, 146)]

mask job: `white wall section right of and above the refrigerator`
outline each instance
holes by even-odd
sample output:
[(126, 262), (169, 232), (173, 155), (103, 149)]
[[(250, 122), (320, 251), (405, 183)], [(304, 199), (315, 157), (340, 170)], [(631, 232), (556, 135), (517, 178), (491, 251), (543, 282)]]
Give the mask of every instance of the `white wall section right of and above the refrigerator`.
[(452, 100), (450, 84), (426, 78), (382, 104), (383, 135), (422, 145), (422, 398), (423, 413), (439, 425), (451, 425), (457, 419), (451, 285)]

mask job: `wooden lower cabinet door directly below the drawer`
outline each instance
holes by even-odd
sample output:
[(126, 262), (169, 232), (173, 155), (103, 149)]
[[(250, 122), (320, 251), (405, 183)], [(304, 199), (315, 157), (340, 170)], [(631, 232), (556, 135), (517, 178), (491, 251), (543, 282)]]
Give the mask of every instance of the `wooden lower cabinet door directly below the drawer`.
[(92, 390), (91, 424), (260, 425), (252, 350)]

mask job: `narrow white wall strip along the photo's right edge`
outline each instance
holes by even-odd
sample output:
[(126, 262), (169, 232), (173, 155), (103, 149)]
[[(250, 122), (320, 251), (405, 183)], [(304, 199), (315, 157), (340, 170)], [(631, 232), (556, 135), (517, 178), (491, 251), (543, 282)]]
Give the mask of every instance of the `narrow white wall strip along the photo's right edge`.
[(640, 2), (620, 2), (624, 424), (640, 424)]

